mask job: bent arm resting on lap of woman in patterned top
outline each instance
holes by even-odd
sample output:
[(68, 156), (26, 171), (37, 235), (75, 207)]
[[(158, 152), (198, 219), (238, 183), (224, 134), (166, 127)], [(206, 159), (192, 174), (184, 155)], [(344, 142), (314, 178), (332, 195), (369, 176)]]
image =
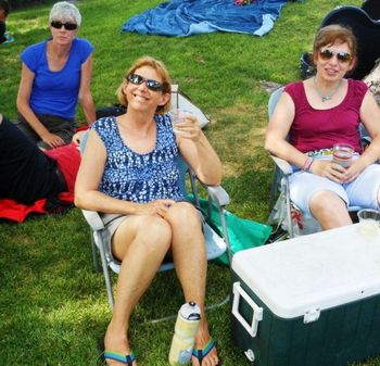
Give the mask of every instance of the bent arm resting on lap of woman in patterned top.
[(157, 200), (147, 204), (123, 201), (98, 190), (104, 173), (106, 150), (98, 134), (90, 130), (79, 172), (75, 181), (75, 205), (80, 209), (112, 214), (165, 215), (173, 200)]

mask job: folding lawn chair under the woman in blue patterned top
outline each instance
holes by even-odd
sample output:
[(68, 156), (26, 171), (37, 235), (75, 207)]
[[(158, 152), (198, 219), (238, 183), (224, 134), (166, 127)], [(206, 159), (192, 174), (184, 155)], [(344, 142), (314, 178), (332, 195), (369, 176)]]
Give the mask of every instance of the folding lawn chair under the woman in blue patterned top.
[[(87, 139), (87, 136), (81, 141), (81, 146), (80, 146), (81, 152), (84, 151), (86, 139)], [(177, 163), (180, 169), (180, 190), (185, 194), (185, 197), (187, 195), (187, 179), (186, 179), (187, 176), (189, 177), (190, 192), (193, 197), (194, 205), (200, 210), (202, 209), (200, 205), (198, 188), (203, 187), (207, 194), (208, 210), (206, 210), (206, 212), (202, 210), (206, 219), (206, 224), (204, 227), (204, 236), (205, 236), (206, 250), (207, 250), (207, 260), (208, 261), (215, 260), (219, 257), (221, 254), (224, 254), (226, 251), (228, 253), (229, 260), (231, 260), (231, 251), (230, 251), (227, 225), (225, 219), (225, 207), (229, 203), (228, 193), (220, 186), (206, 186), (201, 182), (198, 184), (197, 176), (191, 172), (191, 169), (188, 167), (185, 161), (180, 156), (178, 156), (177, 159), (178, 159)], [(212, 205), (215, 205), (218, 209), (218, 215), (219, 215), (220, 226), (223, 231), (221, 235), (216, 232), (207, 224), (207, 219), (208, 217), (211, 217)], [(106, 292), (109, 296), (109, 303), (110, 303), (111, 310), (113, 310), (114, 295), (113, 295), (109, 268), (112, 272), (118, 274), (121, 268), (121, 263), (113, 257), (110, 251), (107, 251), (109, 245), (106, 240), (110, 240), (110, 239), (105, 234), (104, 224), (99, 213), (94, 211), (83, 210), (83, 214), (90, 226), (93, 266), (98, 272), (100, 272), (101, 269), (103, 270)], [(99, 254), (100, 254), (101, 265), (99, 264)], [(172, 268), (174, 268), (173, 262), (164, 262), (161, 265), (159, 272), (164, 272)], [(227, 300), (228, 300), (228, 295), (220, 303), (208, 305), (207, 308), (223, 305), (227, 302)], [(166, 319), (166, 318), (163, 318), (163, 319)]]

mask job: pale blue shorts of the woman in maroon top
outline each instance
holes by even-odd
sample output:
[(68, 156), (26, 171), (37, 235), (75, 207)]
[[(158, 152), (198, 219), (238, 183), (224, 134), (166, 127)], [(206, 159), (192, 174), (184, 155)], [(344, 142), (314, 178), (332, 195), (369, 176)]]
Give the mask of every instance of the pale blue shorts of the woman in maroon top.
[(290, 198), (303, 211), (311, 214), (308, 203), (318, 191), (337, 193), (347, 206), (379, 210), (380, 164), (367, 166), (360, 175), (349, 184), (337, 184), (328, 178), (311, 173), (296, 172), (290, 178)]

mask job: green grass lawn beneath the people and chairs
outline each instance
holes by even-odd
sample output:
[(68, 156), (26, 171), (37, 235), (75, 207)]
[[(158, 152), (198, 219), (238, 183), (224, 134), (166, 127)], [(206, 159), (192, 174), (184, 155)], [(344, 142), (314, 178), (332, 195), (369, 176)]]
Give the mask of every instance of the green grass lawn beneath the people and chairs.
[[(223, 33), (190, 38), (121, 34), (125, 20), (159, 3), (77, 2), (84, 16), (79, 36), (96, 47), (94, 101), (98, 106), (116, 102), (115, 90), (135, 59), (150, 54), (163, 60), (174, 80), (212, 116), (206, 135), (223, 161), (229, 210), (264, 223), (273, 165), (263, 149), (268, 94), (261, 81), (297, 79), (300, 55), (311, 50), (320, 21), (346, 2), (290, 2), (263, 38)], [(20, 53), (49, 36), (49, 10), (50, 5), (38, 5), (9, 16), (8, 27), (16, 41), (0, 46), (0, 111), (13, 119)], [(84, 122), (80, 111), (78, 121)], [(103, 278), (92, 272), (89, 230), (80, 212), (1, 224), (0, 243), (0, 365), (96, 365), (97, 340), (111, 313)], [(207, 281), (207, 302), (220, 301), (229, 291), (229, 270), (211, 264)], [(132, 318), (130, 339), (139, 365), (167, 364), (174, 321), (147, 320), (173, 314), (181, 303), (174, 272), (159, 274)], [(229, 305), (210, 311), (208, 318), (225, 365), (249, 365), (231, 341)], [(380, 358), (362, 365), (380, 366)]]

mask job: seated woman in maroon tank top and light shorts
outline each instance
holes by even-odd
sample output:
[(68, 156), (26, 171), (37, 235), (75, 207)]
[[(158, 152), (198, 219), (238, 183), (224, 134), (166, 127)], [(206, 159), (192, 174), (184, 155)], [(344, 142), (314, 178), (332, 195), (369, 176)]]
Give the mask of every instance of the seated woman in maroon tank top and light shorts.
[[(270, 117), (265, 148), (294, 166), (292, 201), (322, 229), (352, 224), (347, 205), (379, 210), (380, 109), (367, 86), (347, 79), (355, 67), (356, 39), (340, 25), (318, 30), (313, 49), (316, 75), (288, 85)], [(372, 141), (362, 151), (363, 123)], [(346, 164), (332, 147), (350, 144)]]

